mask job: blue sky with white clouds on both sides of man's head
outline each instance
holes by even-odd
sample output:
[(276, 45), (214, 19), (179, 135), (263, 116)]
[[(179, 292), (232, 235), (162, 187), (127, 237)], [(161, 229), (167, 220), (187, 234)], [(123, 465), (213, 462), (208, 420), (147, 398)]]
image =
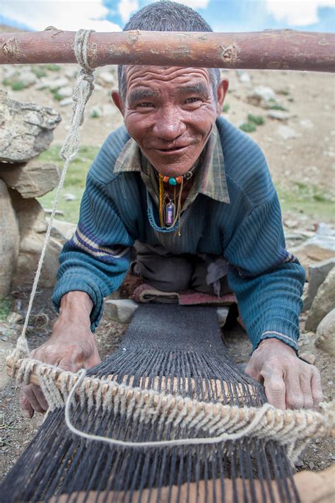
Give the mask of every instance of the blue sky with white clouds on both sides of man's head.
[[(151, 0), (0, 0), (0, 23), (43, 30), (121, 30)], [(333, 32), (335, 0), (184, 0), (217, 32), (293, 28)]]

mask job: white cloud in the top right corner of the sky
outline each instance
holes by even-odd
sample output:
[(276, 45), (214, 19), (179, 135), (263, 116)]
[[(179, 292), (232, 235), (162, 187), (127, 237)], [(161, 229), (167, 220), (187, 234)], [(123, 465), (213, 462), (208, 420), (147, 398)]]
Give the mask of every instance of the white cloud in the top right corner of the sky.
[(266, 9), (278, 22), (308, 26), (319, 21), (319, 7), (333, 7), (334, 0), (265, 0)]

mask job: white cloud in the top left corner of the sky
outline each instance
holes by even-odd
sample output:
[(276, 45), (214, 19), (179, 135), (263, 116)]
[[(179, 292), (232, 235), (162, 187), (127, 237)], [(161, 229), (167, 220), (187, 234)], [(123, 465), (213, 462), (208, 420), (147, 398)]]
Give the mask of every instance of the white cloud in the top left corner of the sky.
[(120, 31), (107, 21), (108, 9), (102, 0), (2, 0), (1, 15), (42, 31), (47, 26), (76, 31), (80, 28), (95, 31)]

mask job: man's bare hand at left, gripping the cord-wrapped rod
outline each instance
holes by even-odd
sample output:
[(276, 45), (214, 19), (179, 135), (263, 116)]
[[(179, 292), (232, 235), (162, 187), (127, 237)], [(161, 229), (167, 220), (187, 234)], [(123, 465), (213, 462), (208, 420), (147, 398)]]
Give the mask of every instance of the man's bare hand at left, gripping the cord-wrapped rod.
[[(98, 347), (90, 331), (91, 310), (92, 301), (87, 294), (73, 291), (64, 295), (51, 337), (33, 349), (30, 356), (71, 372), (99, 364)], [(20, 406), (25, 417), (33, 417), (35, 410), (45, 412), (48, 405), (40, 386), (24, 385), (20, 392)]]

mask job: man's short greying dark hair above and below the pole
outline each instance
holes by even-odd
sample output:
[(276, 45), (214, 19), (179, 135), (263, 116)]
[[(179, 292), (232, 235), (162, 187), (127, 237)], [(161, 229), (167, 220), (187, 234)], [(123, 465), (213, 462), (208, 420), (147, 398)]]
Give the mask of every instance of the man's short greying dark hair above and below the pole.
[[(193, 8), (177, 4), (175, 1), (161, 0), (149, 4), (131, 16), (123, 31), (213, 31), (204, 18)], [(213, 86), (213, 95), (216, 98), (216, 88), (221, 79), (218, 68), (208, 68), (209, 78)], [(119, 94), (122, 101), (126, 98), (127, 80), (124, 65), (117, 67), (119, 81)]]

